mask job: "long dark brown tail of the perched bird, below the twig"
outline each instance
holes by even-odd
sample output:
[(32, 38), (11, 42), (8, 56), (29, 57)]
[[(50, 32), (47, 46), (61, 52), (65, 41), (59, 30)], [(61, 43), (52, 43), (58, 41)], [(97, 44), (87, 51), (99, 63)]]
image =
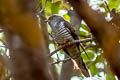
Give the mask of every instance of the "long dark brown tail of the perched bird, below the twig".
[(79, 69), (85, 77), (90, 77), (88, 69), (83, 62), (79, 48), (76, 45), (67, 47), (68, 55), (72, 58), (72, 61), (77, 69)]

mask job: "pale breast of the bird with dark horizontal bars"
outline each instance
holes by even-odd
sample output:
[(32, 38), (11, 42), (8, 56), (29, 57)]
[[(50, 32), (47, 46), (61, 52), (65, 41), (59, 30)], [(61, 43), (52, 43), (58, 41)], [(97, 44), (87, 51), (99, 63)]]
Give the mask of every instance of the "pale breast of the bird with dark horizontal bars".
[(60, 22), (59, 26), (55, 27), (52, 31), (54, 40), (58, 44), (64, 44), (68, 40), (72, 40), (69, 30), (65, 27), (64, 22)]

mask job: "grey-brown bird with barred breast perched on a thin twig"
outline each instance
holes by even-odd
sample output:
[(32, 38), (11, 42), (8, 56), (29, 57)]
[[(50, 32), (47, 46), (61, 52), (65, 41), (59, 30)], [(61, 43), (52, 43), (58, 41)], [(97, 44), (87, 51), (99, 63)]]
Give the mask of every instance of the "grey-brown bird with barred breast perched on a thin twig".
[[(78, 35), (75, 33), (75, 30), (72, 28), (71, 24), (64, 20), (61, 16), (52, 15), (48, 18), (47, 22), (52, 29), (51, 34), (54, 38), (54, 41), (58, 45), (62, 46), (67, 42), (79, 39)], [(67, 53), (69, 57), (72, 58), (74, 64), (77, 64), (76, 67), (79, 68), (82, 74), (85, 77), (90, 77), (88, 69), (81, 57), (79, 43), (68, 46), (63, 50)]]

